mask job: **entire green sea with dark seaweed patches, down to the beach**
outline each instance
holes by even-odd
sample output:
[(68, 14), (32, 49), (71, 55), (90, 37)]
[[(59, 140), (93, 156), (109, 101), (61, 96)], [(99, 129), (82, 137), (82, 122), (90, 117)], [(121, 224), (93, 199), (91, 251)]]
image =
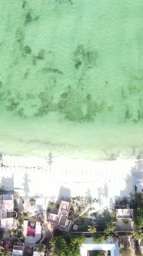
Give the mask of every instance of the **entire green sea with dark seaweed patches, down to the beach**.
[(72, 3), (0, 0), (0, 151), (141, 155), (143, 2)]

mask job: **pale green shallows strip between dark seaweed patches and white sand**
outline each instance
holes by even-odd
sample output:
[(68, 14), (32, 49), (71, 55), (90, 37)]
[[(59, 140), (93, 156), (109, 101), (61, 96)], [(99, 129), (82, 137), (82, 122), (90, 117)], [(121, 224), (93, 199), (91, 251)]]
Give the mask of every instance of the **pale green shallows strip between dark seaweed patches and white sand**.
[(70, 123), (55, 116), (22, 120), (3, 116), (0, 149), (5, 155), (114, 160), (143, 157), (141, 123)]

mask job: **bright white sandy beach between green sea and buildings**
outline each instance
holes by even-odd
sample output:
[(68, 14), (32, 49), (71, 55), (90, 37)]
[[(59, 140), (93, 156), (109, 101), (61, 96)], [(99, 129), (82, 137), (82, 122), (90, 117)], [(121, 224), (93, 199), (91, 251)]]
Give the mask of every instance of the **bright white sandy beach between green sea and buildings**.
[[(113, 207), (115, 198), (134, 192), (134, 173), (143, 170), (142, 160), (88, 161), (66, 157), (46, 158), (3, 157), (0, 167), (0, 186), (18, 191), (22, 197), (39, 197), (57, 200), (60, 196), (96, 197), (96, 207)], [(46, 207), (45, 205), (45, 207)]]

